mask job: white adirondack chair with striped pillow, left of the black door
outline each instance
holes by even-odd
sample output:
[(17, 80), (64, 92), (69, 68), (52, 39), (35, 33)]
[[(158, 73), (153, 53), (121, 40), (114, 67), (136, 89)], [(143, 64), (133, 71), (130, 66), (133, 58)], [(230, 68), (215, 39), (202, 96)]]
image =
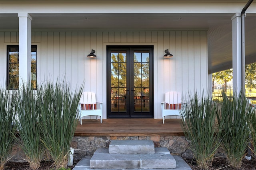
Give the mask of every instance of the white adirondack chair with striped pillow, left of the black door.
[[(100, 104), (100, 109), (97, 109), (97, 103)], [(102, 105), (102, 102), (96, 102), (95, 93), (83, 92), (78, 104), (81, 125), (84, 116), (96, 116), (97, 120), (100, 116), (100, 123), (102, 123)]]

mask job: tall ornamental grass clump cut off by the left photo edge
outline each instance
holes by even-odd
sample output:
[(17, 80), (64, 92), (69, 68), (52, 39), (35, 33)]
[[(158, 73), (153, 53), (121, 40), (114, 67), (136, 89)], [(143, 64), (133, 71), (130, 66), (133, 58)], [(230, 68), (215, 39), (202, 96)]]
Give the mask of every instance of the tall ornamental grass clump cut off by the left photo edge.
[(15, 139), (16, 92), (0, 88), (0, 170), (10, 159), (9, 154)]

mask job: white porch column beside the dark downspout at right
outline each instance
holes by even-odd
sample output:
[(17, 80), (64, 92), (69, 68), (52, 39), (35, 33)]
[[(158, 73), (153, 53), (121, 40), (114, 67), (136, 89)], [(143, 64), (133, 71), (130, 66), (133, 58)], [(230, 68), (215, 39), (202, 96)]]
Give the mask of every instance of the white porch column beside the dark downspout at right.
[(241, 73), (241, 16), (236, 13), (232, 18), (232, 64), (233, 64), (233, 91), (240, 92), (242, 88)]

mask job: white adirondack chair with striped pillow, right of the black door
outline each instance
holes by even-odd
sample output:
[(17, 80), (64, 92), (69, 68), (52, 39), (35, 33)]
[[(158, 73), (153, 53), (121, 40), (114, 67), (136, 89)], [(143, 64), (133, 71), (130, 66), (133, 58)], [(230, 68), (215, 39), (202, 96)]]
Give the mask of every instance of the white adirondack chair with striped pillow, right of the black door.
[(164, 123), (165, 116), (181, 116), (180, 110), (182, 109), (182, 96), (180, 92), (167, 92), (165, 93), (165, 101), (161, 102), (162, 117)]

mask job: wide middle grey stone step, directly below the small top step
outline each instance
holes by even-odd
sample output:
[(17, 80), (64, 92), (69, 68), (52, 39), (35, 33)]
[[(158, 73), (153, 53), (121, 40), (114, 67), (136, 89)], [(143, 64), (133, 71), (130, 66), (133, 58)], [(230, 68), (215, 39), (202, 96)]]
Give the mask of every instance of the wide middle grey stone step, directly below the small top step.
[(97, 149), (90, 160), (92, 169), (168, 169), (175, 168), (176, 161), (169, 153), (110, 154)]

